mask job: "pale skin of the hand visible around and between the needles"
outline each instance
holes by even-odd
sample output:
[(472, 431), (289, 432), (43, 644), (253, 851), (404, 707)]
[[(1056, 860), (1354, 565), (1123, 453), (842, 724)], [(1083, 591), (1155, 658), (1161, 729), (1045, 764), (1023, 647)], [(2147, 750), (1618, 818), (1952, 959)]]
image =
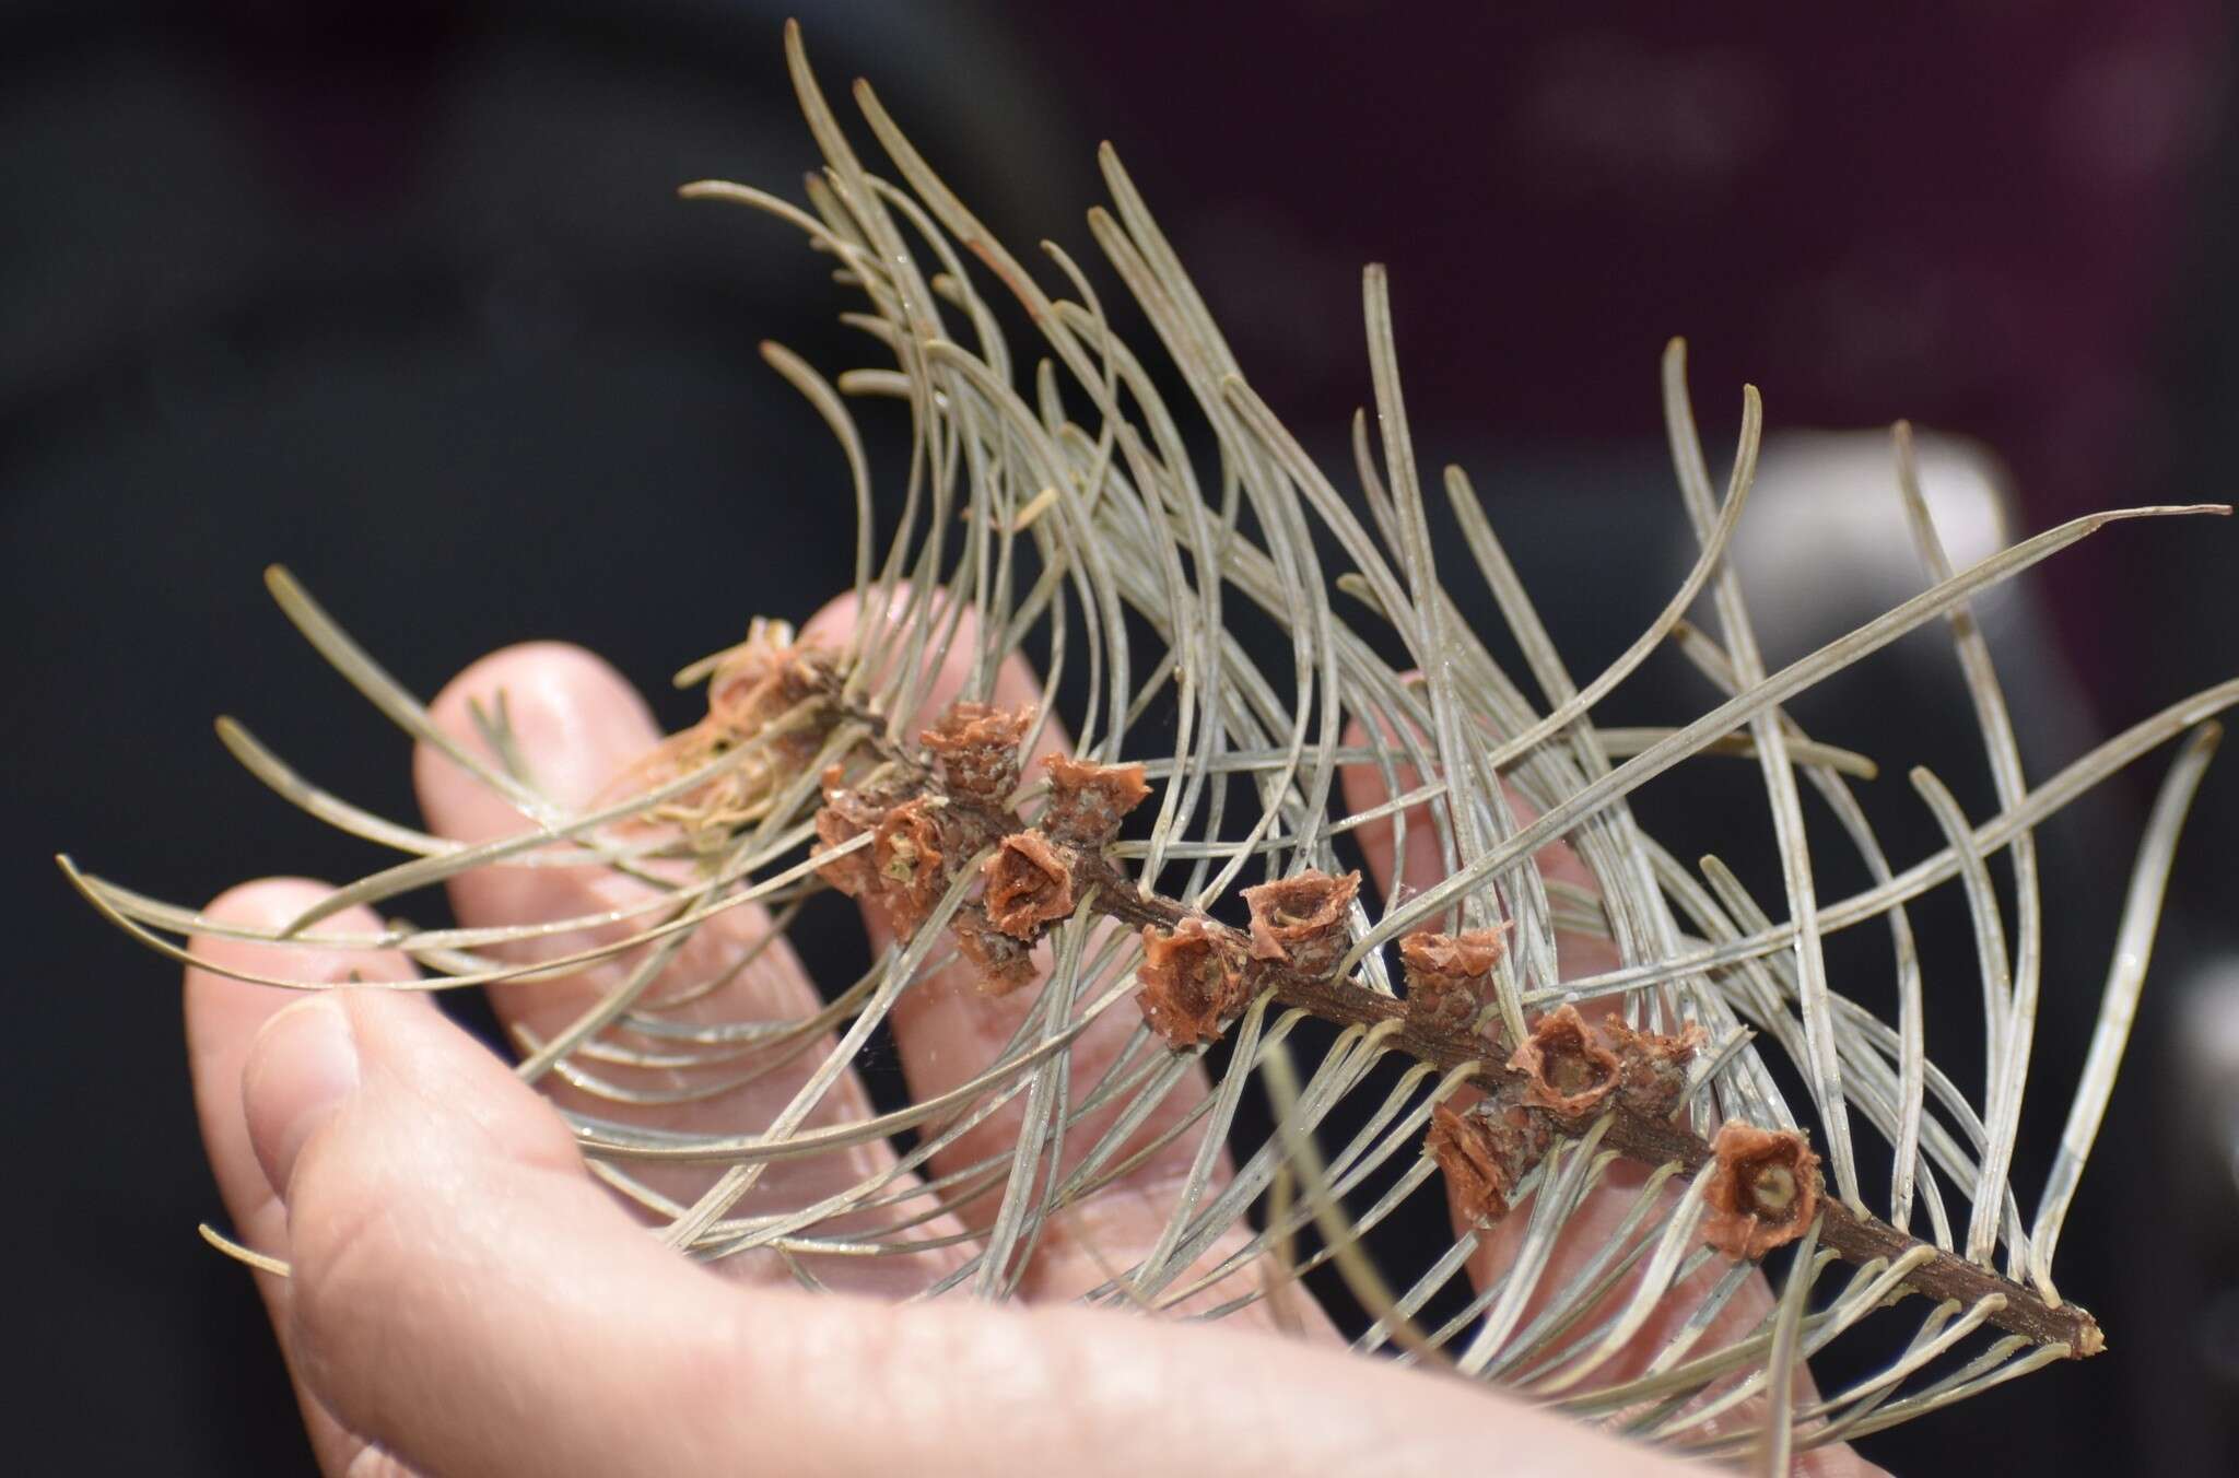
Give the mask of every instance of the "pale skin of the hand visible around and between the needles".
[[(837, 636), (851, 620), (835, 602), (811, 632)], [(936, 705), (954, 696), (949, 679)], [(432, 712), (479, 748), (468, 699), (488, 701), (497, 690), (531, 775), (562, 802), (589, 799), (658, 739), (645, 703), (613, 670), (560, 645), (484, 658)], [(1032, 692), (1032, 674), (1008, 665), (999, 701)], [(432, 831), (479, 840), (522, 829), (510, 806), (432, 750), (416, 755), (414, 779)], [(1348, 777), (1348, 797), (1373, 804), (1381, 786)], [(1381, 858), (1370, 849), (1370, 864), (1386, 882), (1390, 846)], [(627, 887), (515, 869), (461, 880), (452, 902), (466, 925), (522, 923), (584, 914), (602, 898), (611, 907)], [(224, 894), (210, 914), (278, 923), (320, 891), (269, 878)], [(705, 945), (678, 963), (683, 983), (721, 974), (721, 954), (743, 950), (763, 923), (743, 911), (725, 920), (734, 923), (710, 925)], [(378, 920), (360, 911), (322, 927), (360, 932)], [(884, 943), (882, 918), (866, 918), (866, 927)], [(307, 981), (412, 974), (394, 956), (215, 936), (197, 938), (195, 952)], [(513, 985), (495, 1005), (506, 1021), (551, 1032), (613, 979), (591, 970)], [(1025, 994), (987, 1001), (965, 979), (911, 990), (893, 1017), (911, 1088), (938, 1093), (985, 1066), (1025, 1010)], [(708, 1019), (775, 1014), (815, 999), (779, 943), (687, 1010)], [(1095, 1207), (1052, 1225), (1019, 1303), (987, 1306), (961, 1292), (896, 1303), (954, 1265), (954, 1250), (822, 1259), (817, 1274), (842, 1292), (808, 1294), (775, 1261), (703, 1265), (661, 1247), (645, 1218), (584, 1171), (551, 1100), (425, 994), (360, 985), (300, 997), (190, 970), (186, 1026), (204, 1142), (235, 1234), (293, 1267), (289, 1279), (255, 1276), (327, 1474), (1686, 1471), (1482, 1386), (1346, 1355), (1319, 1310), (1296, 1299), (1220, 1323), (1068, 1306), (1151, 1247), (1193, 1135), (1146, 1160)], [(1075, 1082), (1093, 1082), (1124, 1026), (1113, 1021), (1081, 1041)], [(768, 1122), (808, 1068), (813, 1055), (797, 1073), (708, 1104), (600, 1102), (598, 1113), (746, 1131)], [(1175, 1100), (1202, 1091), (1198, 1079)], [(591, 1102), (566, 1088), (553, 1097)], [(822, 1117), (853, 1117), (864, 1104), (862, 1086), (849, 1079)], [(934, 1171), (990, 1153), (1003, 1133), (1001, 1120), (990, 1122)], [(739, 1209), (804, 1205), (875, 1164), (875, 1156), (781, 1162)], [(678, 1171), (647, 1180), (678, 1200), (705, 1185), (705, 1176)], [(929, 1229), (967, 1234), (969, 1225)], [(1684, 1292), (1673, 1306), (1684, 1317)], [(1829, 1451), (1811, 1456), (1811, 1471), (1872, 1469)]]

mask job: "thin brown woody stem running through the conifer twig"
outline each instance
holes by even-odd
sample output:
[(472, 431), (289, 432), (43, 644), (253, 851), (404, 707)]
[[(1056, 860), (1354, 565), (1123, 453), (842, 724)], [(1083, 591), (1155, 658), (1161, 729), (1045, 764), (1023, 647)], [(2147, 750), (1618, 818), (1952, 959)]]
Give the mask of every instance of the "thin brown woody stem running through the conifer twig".
[[(855, 717), (860, 717), (873, 732), (884, 728), (873, 714), (864, 712)], [(884, 741), (873, 741), (873, 748), (882, 759), (891, 759), (922, 775), (929, 786), (940, 784), (938, 777), (934, 777), (916, 757), (900, 752)], [(981, 820), (987, 824), (990, 835), (1001, 835), (1019, 826), (1019, 817), (976, 806), (974, 802), (956, 795), (949, 795), (949, 804), (983, 813)], [(1102, 853), (1081, 855), (1075, 869), (1075, 891), (1090, 894), (1090, 907), (1097, 914), (1135, 927), (1155, 925), (1160, 929), (1173, 929), (1182, 923), (1182, 918), (1191, 916), (1189, 907), (1137, 889), (1135, 880), (1117, 862)], [(1216, 920), (1207, 923), (1231, 936), (1236, 958), (1249, 956), (1252, 941), (1243, 929), (1231, 929)], [(1489, 1044), (1476, 1032), (1408, 1019), (1406, 1003), (1393, 997), (1377, 994), (1346, 979), (1305, 974), (1274, 961), (1249, 961), (1245, 972), (1254, 994), (1272, 988), (1276, 1001), (1283, 1005), (1299, 1008), (1334, 1026), (1381, 1026), (1384, 1021), (1397, 1021), (1395, 1046), (1417, 1061), (1431, 1064), (1440, 1073), (1458, 1068), (1464, 1061), (1478, 1061), (1478, 1082), (1487, 1088), (1502, 1088), (1523, 1082), (1520, 1073), (1500, 1061), (1487, 1059)], [(1590, 1120), (1572, 1124), (1572, 1133), (1583, 1131), (1585, 1122)], [(1603, 1142), (1623, 1153), (1628, 1160), (1637, 1160), (1641, 1164), (1679, 1164), (1686, 1171), (1695, 1171), (1711, 1160), (1711, 1144), (1702, 1135), (1673, 1122), (1646, 1117), (1630, 1108), (1614, 1111), (1614, 1122), (1610, 1124)], [(1879, 1216), (1854, 1212), (1832, 1196), (1825, 1198), (1823, 1212), (1820, 1245), (1834, 1250), (1843, 1261), (1854, 1265), (1894, 1261), (1926, 1245)], [(2035, 1290), (1952, 1252), (1932, 1250), (1926, 1263), (1905, 1274), (1903, 1285), (1910, 1292), (1939, 1303), (1957, 1299), (1961, 1308), (1973, 1308), (1990, 1297), (2004, 1299), (2004, 1303), (1990, 1312), (1990, 1323), (2037, 1344), (2064, 1344), (2069, 1346), (2069, 1359), (2098, 1355), (2107, 1348), (2098, 1319), (2093, 1319), (2082, 1306), (2046, 1303)]]

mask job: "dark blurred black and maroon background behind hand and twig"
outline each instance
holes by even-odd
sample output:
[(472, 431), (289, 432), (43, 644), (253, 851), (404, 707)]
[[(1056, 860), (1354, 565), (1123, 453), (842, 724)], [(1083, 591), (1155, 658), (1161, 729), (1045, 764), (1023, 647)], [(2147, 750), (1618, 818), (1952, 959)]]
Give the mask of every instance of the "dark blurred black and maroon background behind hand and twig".
[[(2089, 508), (2232, 495), (2235, 36), (2208, 0), (1881, 7), (1858, 27), (1771, 4), (797, 9), (826, 85), (869, 74), (1014, 244), (1093, 258), (1090, 150), (1113, 139), (1247, 374), (1339, 457), (1368, 399), (1357, 273), (1388, 262), (1422, 455), (1469, 466), (1578, 670), (1688, 562), (1657, 412), (1670, 334), (1693, 343), (1715, 466), (1740, 383), (1767, 394), (1737, 558), (1776, 663), (1919, 587), (1885, 475), (1896, 417), (1928, 437), (1961, 560)], [(215, 712), (412, 813), (403, 739), (257, 571), (291, 564), (421, 692), (531, 636), (658, 685), (846, 582), (840, 457), (755, 347), (826, 370), (875, 354), (784, 226), (672, 197), (705, 175), (797, 193), (815, 155), (781, 13), (0, 7), (0, 1093), (27, 1471), (309, 1462), (246, 1276), (193, 1234), (217, 1205), (175, 979), (47, 860), (188, 902), (363, 871), (224, 757)], [(871, 430), (891, 452), (896, 425)], [(2239, 674), (2235, 553), (2223, 522), (2127, 524), (1986, 605), (2035, 777)], [(1655, 663), (1612, 714), (1706, 699)], [(1883, 761), (1867, 804), (1899, 864), (1937, 844), (1912, 764), (1993, 808), (1941, 632), (1800, 712)], [(2163, 761), (2042, 833), (2024, 1203)], [(1778, 898), (1735, 770), (1641, 808)], [(2212, 775), (2062, 1243), (2062, 1292), (2100, 1312), (2109, 1355), (1870, 1442), (1896, 1471), (2239, 1469), (2232, 838), (2239, 784)], [(1829, 894), (1854, 885), (1829, 862)], [(1979, 1057), (1964, 909), (1921, 923), (1930, 1050)]]

